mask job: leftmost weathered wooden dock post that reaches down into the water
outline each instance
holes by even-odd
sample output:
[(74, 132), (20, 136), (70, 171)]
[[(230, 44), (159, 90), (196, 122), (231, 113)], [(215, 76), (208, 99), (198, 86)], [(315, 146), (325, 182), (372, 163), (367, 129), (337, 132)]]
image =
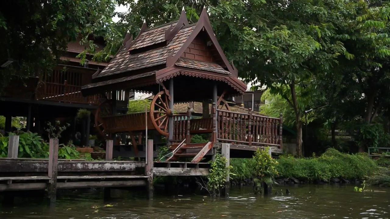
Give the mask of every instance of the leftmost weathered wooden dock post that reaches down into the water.
[(49, 167), (48, 175), (50, 177), (50, 205), (55, 205), (57, 194), (57, 168), (58, 168), (58, 139), (50, 138), (49, 141)]

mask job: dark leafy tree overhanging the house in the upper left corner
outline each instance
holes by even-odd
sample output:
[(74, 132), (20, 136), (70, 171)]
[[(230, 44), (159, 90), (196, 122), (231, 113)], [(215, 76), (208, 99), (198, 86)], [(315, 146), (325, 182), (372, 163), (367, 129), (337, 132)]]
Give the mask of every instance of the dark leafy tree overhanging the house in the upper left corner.
[[(105, 38), (106, 48), (95, 58), (116, 52), (122, 36), (112, 22), (115, 0), (14, 0), (0, 8), (0, 62), (14, 60), (0, 68), (0, 93), (15, 77), (35, 76), (51, 69), (66, 50), (69, 41), (81, 38), (86, 53), (96, 45), (90, 35)], [(3, 5), (4, 6), (4, 5)], [(119, 41), (120, 39), (120, 41)]]

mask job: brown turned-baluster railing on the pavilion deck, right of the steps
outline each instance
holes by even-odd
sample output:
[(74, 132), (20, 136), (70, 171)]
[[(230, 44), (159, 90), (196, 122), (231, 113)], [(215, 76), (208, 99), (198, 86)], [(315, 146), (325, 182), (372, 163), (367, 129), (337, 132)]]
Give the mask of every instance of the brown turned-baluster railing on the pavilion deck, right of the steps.
[(282, 114), (280, 118), (236, 113), (216, 109), (217, 140), (245, 145), (282, 145)]

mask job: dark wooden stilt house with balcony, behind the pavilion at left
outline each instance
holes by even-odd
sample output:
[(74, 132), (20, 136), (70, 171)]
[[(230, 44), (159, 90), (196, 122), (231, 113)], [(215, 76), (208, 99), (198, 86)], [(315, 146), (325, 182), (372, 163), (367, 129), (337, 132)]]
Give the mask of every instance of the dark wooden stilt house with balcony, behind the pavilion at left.
[[(105, 46), (101, 37), (89, 37), (97, 44), (96, 51)], [(69, 122), (73, 132), (78, 109), (85, 108), (92, 113), (99, 104), (98, 95), (83, 96), (82, 86), (91, 83), (92, 75), (98, 69), (104, 69), (107, 62), (92, 61), (92, 55), (87, 54), (87, 62), (83, 65), (76, 58), (85, 47), (80, 41), (72, 41), (67, 45), (66, 53), (60, 58), (59, 64), (52, 71), (44, 71), (26, 80), (12, 80), (0, 97), (0, 115), (5, 116), (5, 132), (11, 131), (12, 117), (27, 117), (26, 129), (43, 134), (46, 122), (54, 124), (55, 120)], [(124, 111), (127, 109), (129, 92), (117, 91), (117, 103)], [(110, 96), (111, 94), (107, 94)], [(72, 121), (73, 120), (73, 121)], [(88, 132), (86, 125), (82, 132)], [(73, 133), (74, 134), (74, 133)], [(46, 134), (45, 134), (46, 136)], [(85, 134), (84, 134), (85, 136)], [(88, 134), (86, 134), (88, 136)]]

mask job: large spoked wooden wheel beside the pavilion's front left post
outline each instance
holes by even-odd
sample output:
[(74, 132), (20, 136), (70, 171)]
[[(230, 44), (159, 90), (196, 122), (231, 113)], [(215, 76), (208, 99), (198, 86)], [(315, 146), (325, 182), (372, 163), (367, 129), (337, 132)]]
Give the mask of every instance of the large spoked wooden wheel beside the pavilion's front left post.
[(168, 136), (168, 124), (173, 111), (169, 109), (170, 96), (167, 90), (162, 90), (156, 94), (150, 105), (150, 118), (156, 130)]

